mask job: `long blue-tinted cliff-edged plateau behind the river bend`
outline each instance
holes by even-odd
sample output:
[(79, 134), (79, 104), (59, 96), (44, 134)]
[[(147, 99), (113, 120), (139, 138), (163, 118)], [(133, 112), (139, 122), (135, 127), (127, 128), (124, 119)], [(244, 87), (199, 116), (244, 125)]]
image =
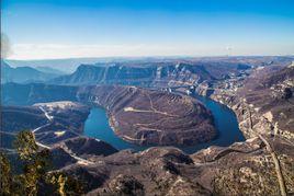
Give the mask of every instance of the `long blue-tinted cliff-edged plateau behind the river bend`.
[(52, 80), (56, 84), (124, 84), (139, 87), (193, 85), (222, 79), (229, 72), (248, 69), (228, 61), (117, 62), (81, 65), (72, 74)]

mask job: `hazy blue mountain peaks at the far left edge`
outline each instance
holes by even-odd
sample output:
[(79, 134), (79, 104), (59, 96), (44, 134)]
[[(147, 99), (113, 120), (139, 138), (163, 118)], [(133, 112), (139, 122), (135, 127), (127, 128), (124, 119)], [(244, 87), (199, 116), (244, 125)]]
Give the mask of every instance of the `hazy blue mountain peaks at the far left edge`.
[(63, 74), (52, 68), (38, 68), (31, 67), (16, 67), (9, 66), (5, 61), (1, 60), (1, 83), (15, 82), (15, 83), (29, 83), (29, 82), (44, 82)]

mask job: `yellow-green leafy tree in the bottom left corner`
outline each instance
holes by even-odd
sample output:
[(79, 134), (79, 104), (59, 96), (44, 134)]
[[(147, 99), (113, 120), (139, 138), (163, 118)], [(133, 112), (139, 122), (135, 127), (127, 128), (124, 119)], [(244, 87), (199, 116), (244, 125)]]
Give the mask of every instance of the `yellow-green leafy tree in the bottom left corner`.
[[(21, 174), (11, 172), (8, 158), (0, 153), (0, 195), (35, 196), (39, 189), (47, 195), (81, 195), (82, 185), (79, 181), (63, 172), (48, 172), (50, 169), (50, 151), (38, 149), (34, 134), (27, 130), (18, 134), (14, 147), (21, 159), (23, 170)], [(43, 193), (44, 195), (44, 193)]]

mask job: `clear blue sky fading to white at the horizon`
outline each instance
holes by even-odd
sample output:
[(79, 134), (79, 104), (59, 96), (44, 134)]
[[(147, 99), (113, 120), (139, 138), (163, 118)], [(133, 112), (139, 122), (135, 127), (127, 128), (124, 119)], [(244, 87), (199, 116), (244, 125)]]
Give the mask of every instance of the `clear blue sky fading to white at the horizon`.
[(11, 59), (293, 55), (293, 0), (2, 0)]

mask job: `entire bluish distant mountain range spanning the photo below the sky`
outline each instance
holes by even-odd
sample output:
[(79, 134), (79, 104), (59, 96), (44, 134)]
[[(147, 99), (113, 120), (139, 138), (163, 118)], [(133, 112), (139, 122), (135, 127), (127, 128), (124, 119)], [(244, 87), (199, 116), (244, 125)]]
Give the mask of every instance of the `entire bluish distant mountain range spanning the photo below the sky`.
[(292, 57), (203, 58), (71, 58), (5, 60), (1, 82), (53, 84), (127, 84), (139, 87), (195, 85), (242, 74), (272, 64), (284, 66)]

